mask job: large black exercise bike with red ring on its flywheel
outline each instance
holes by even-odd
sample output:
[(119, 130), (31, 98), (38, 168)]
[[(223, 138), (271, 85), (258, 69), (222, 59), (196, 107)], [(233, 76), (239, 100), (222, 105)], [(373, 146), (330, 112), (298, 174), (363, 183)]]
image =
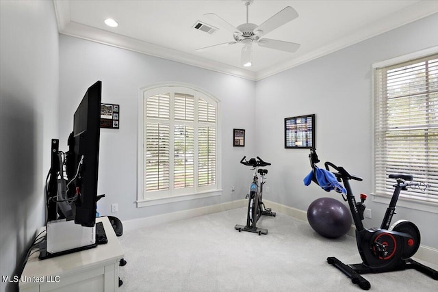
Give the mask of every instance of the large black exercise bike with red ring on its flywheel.
[[(312, 170), (315, 172), (318, 169), (315, 163), (320, 160), (314, 148), (310, 150), (309, 159)], [(343, 167), (331, 162), (327, 161), (324, 165), (327, 171), (333, 168), (336, 171), (333, 174), (335, 174), (337, 181), (344, 184), (346, 198), (344, 194), (342, 196), (344, 200), (348, 201), (355, 222), (357, 248), (363, 261), (359, 264), (346, 265), (335, 257), (329, 257), (327, 262), (342, 271), (353, 283), (358, 284), (364, 290), (370, 289), (371, 284), (360, 274), (416, 269), (430, 278), (438, 280), (438, 271), (411, 258), (420, 247), (420, 230), (417, 226), (407, 220), (399, 220), (389, 227), (391, 219), (396, 213), (396, 204), (400, 191), (407, 190), (409, 186), (418, 185), (418, 183), (412, 182), (413, 176), (411, 174), (389, 174), (389, 178), (394, 178), (396, 184), (394, 185), (391, 202), (389, 202), (385, 217), (383, 217), (381, 228), (366, 229), (362, 224), (366, 195), (361, 194), (361, 202), (356, 202), (349, 183), (350, 180), (362, 181), (362, 178), (349, 174)], [(313, 178), (315, 178), (315, 175)], [(318, 184), (316, 179), (312, 180)]]

